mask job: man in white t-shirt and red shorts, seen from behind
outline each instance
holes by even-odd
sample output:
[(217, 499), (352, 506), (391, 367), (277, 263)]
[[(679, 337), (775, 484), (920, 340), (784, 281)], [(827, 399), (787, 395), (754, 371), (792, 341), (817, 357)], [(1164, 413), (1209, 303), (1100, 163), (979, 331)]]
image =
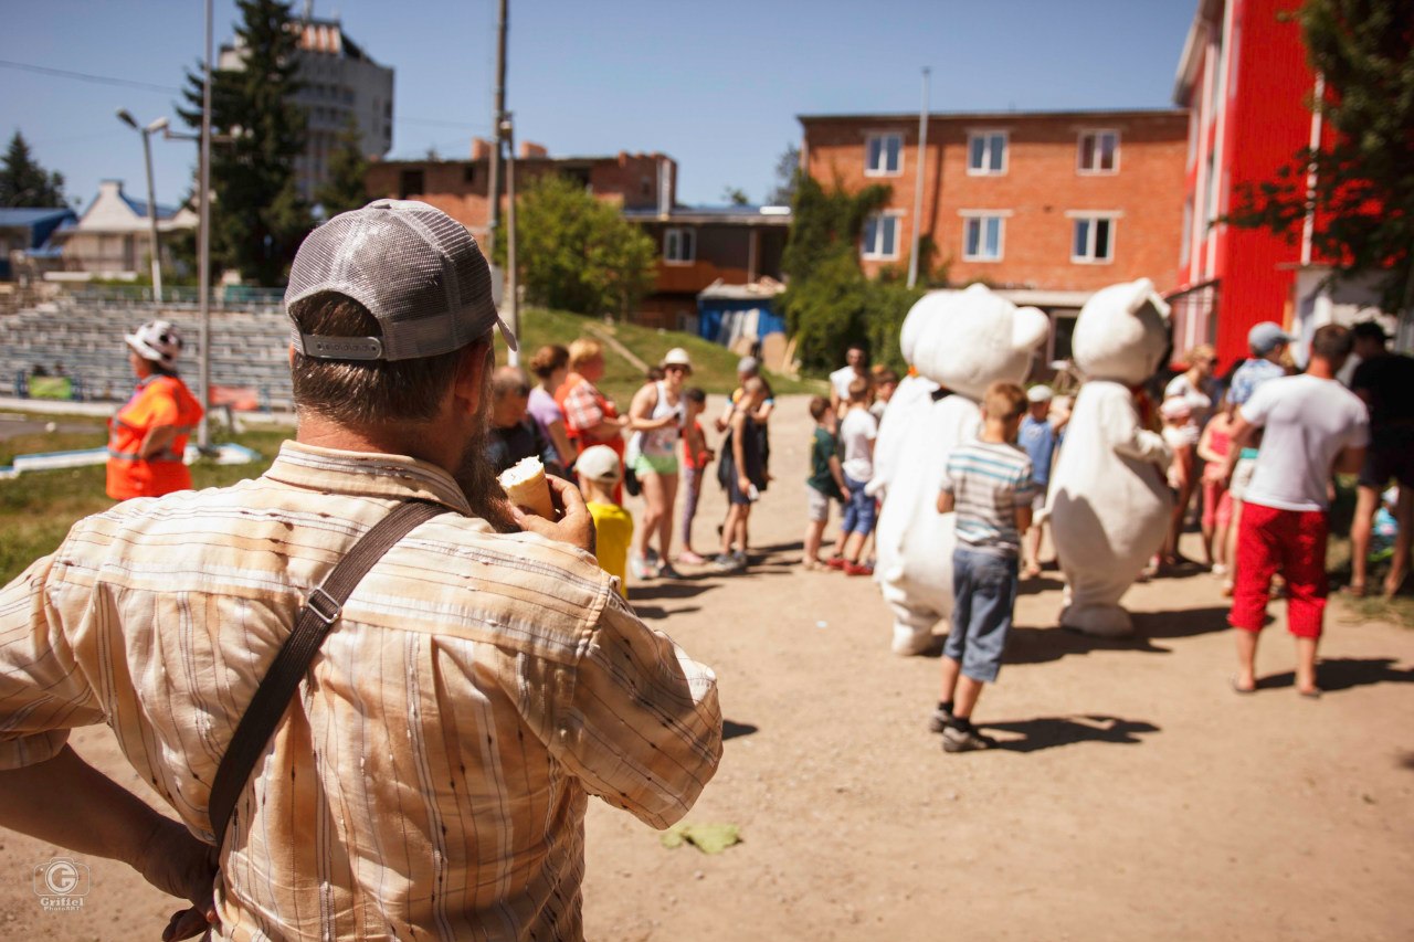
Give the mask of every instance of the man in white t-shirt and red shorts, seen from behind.
[(1263, 383), (1237, 409), (1227, 475), (1254, 430), (1266, 430), (1257, 470), (1243, 496), (1237, 581), (1227, 615), (1237, 629), (1233, 689), (1239, 693), (1251, 693), (1257, 686), (1257, 632), (1267, 620), (1271, 577), (1280, 571), (1287, 580), (1287, 631), (1297, 641), (1297, 692), (1321, 696), (1316, 642), (1326, 603), (1331, 475), (1359, 471), (1370, 437), (1365, 403), (1335, 378), (1352, 347), (1348, 328), (1318, 328), (1307, 372)]

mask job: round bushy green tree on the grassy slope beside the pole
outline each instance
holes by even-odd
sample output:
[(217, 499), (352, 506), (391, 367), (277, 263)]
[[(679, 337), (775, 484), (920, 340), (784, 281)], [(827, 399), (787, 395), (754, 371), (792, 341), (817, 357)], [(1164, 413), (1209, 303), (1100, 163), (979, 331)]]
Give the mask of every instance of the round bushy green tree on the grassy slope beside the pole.
[[(508, 239), (496, 239), (505, 264)], [(516, 195), (518, 279), (532, 304), (628, 317), (653, 289), (658, 246), (583, 184), (536, 178)]]

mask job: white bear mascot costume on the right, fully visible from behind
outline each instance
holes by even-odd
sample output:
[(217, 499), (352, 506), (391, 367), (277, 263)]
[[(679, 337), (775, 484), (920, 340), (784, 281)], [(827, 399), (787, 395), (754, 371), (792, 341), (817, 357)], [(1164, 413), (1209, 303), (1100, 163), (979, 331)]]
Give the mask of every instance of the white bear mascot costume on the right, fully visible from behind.
[(1046, 498), (1066, 577), (1060, 625), (1118, 638), (1134, 631), (1120, 597), (1164, 543), (1174, 508), (1172, 455), (1141, 426), (1130, 392), (1168, 349), (1168, 304), (1148, 279), (1111, 284), (1080, 310), (1072, 347), (1086, 382)]

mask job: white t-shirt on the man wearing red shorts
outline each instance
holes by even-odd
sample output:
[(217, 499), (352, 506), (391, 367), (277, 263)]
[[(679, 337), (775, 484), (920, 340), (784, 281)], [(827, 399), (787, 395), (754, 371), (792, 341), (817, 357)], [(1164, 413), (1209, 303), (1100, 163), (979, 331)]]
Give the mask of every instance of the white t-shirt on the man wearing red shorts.
[(1241, 498), (1246, 504), (1324, 511), (1335, 457), (1370, 441), (1365, 403), (1333, 379), (1271, 379), (1240, 410), (1243, 419), (1266, 429), (1257, 468)]

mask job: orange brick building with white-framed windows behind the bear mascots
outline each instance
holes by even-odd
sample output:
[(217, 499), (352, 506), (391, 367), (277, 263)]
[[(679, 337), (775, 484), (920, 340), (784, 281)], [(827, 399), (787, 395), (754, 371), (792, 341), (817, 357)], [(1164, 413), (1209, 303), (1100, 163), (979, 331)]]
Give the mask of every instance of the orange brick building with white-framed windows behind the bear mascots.
[(1097, 289), (1176, 284), (1184, 110), (930, 113), (921, 219), (918, 113), (799, 120), (802, 165), (822, 185), (891, 188), (865, 221), (867, 273), (906, 270), (918, 229), (949, 284), (984, 281), (1048, 311), (1053, 358), (1069, 355), (1073, 318)]

